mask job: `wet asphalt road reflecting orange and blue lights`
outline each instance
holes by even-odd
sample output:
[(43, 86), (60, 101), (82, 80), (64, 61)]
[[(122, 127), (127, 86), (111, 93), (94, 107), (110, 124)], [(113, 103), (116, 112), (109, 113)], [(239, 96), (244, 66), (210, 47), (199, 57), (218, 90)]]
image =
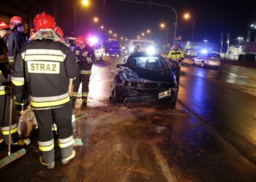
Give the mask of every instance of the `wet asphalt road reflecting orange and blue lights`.
[(0, 181), (256, 181), (255, 69), (185, 65), (176, 110), (124, 107), (109, 102), (120, 60), (94, 64), (77, 157), (63, 166), (57, 150), (46, 170), (34, 136)]

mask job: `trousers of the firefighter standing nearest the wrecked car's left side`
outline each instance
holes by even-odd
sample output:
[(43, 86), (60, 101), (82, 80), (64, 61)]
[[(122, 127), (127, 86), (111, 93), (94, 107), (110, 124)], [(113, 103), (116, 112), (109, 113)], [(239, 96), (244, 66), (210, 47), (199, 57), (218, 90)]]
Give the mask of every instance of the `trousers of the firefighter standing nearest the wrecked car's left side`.
[(80, 86), (80, 83), (82, 82), (82, 100), (83, 102), (87, 101), (87, 97), (89, 93), (90, 76), (91, 74), (80, 74), (77, 77), (75, 77), (75, 80), (73, 81), (73, 84), (74, 84), (74, 90), (72, 95), (73, 100), (75, 100), (78, 97), (79, 86)]

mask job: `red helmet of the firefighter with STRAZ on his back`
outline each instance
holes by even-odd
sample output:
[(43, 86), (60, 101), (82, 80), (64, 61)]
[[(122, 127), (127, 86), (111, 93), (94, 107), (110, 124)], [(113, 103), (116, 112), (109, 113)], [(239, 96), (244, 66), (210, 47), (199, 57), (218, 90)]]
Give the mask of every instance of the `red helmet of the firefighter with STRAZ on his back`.
[(34, 17), (34, 29), (36, 31), (40, 29), (51, 29), (55, 31), (55, 28), (56, 28), (55, 19), (48, 13), (42, 12), (38, 14), (36, 17)]

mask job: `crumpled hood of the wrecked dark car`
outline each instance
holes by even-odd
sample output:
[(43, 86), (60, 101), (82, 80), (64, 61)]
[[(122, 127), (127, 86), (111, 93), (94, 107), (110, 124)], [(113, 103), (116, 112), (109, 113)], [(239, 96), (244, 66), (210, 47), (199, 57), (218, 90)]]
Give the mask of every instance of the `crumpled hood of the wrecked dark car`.
[(170, 70), (154, 70), (146, 68), (122, 68), (121, 77), (129, 82), (173, 82)]

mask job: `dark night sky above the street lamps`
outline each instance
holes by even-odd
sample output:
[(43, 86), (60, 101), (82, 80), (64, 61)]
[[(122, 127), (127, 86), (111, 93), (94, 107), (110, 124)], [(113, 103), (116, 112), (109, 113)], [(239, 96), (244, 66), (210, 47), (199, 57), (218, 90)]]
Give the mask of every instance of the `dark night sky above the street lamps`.
[[(143, 1), (143, 0), (140, 0)], [(146, 0), (145, 0), (146, 1)], [(49, 12), (64, 29), (66, 35), (72, 35), (74, 27), (74, 4), (78, 1), (45, 0), (43, 7), (52, 5)], [(220, 33), (231, 33), (231, 39), (237, 36), (246, 38), (249, 25), (256, 23), (255, 3), (252, 1), (199, 1), (199, 0), (152, 0), (154, 3), (169, 4), (178, 12), (177, 36), (188, 41), (192, 36), (192, 20), (184, 20), (184, 12), (191, 12), (195, 18), (195, 41), (208, 39), (209, 42), (219, 43)], [(92, 17), (99, 17), (99, 24), (92, 23)], [(90, 7), (77, 8), (77, 32), (88, 33), (89, 29), (97, 33), (99, 25), (105, 25), (105, 31), (111, 29), (118, 36), (135, 38), (150, 28), (153, 36), (163, 40), (166, 31), (159, 28), (159, 23), (169, 23), (170, 39), (173, 39), (174, 13), (163, 7), (148, 7), (140, 4), (129, 4), (116, 0), (91, 1)]]

